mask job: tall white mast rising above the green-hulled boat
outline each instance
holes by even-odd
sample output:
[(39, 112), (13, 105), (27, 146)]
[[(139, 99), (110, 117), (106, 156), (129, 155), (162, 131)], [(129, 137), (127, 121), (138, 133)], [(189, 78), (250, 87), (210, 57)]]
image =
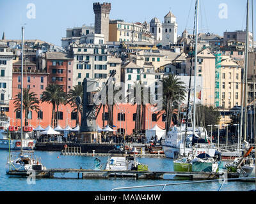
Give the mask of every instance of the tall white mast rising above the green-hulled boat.
[(194, 79), (194, 110), (193, 110), (193, 135), (196, 128), (196, 75), (197, 75), (197, 43), (198, 43), (198, 3), (196, 0), (196, 45), (195, 45), (195, 79)]

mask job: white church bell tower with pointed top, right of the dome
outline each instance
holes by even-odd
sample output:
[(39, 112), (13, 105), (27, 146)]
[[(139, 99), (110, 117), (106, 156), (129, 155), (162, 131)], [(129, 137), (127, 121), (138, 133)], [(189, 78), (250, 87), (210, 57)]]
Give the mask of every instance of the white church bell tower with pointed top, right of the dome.
[(167, 15), (164, 17), (164, 23), (162, 24), (163, 29), (163, 37), (162, 37), (162, 45), (166, 46), (177, 43), (177, 31), (178, 24), (176, 22), (176, 17), (169, 11)]

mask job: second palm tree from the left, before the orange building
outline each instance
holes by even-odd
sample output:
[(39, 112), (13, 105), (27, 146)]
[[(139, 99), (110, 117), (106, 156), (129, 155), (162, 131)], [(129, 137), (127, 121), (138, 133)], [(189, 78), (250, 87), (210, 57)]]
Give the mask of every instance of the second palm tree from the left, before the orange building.
[[(52, 104), (52, 120), (51, 126), (55, 126), (56, 123), (53, 123), (53, 120), (56, 120), (54, 115), (55, 109), (57, 106), (57, 113), (58, 113), (58, 106), (65, 101), (65, 92), (61, 88), (61, 85), (58, 84), (49, 84), (45, 91), (42, 93), (42, 102), (47, 102)], [(57, 119), (58, 120), (58, 119)], [(58, 122), (58, 121), (57, 121)]]

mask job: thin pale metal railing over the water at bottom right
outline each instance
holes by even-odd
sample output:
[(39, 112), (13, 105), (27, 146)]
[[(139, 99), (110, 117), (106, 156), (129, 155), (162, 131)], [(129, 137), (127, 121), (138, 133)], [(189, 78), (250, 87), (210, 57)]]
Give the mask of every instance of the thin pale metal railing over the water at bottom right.
[(199, 181), (192, 181), (192, 182), (180, 182), (180, 183), (172, 183), (172, 184), (155, 184), (155, 185), (145, 185), (145, 186), (130, 186), (130, 187), (116, 187), (111, 191), (116, 190), (125, 190), (125, 189), (139, 189), (145, 187), (163, 187), (162, 191), (164, 191), (166, 186), (175, 186), (175, 185), (184, 185), (184, 184), (200, 184), (206, 182), (221, 182), (221, 186), (219, 187), (218, 191), (221, 191), (223, 185), (229, 180), (251, 180), (256, 179), (256, 177), (243, 177), (243, 178), (232, 178), (232, 179), (212, 179), (212, 180), (199, 180)]

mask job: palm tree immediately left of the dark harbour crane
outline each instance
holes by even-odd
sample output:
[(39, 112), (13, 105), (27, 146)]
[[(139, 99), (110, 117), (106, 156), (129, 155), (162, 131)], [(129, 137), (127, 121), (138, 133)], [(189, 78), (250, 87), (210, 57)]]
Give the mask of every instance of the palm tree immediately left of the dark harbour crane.
[(83, 99), (83, 85), (75, 85), (73, 89), (70, 89), (67, 94), (67, 103), (70, 103), (76, 111), (76, 125), (79, 124), (79, 113), (82, 113), (81, 106), (76, 104), (77, 97)]

